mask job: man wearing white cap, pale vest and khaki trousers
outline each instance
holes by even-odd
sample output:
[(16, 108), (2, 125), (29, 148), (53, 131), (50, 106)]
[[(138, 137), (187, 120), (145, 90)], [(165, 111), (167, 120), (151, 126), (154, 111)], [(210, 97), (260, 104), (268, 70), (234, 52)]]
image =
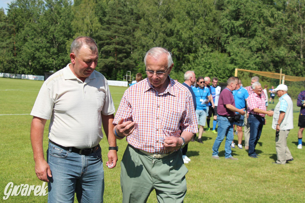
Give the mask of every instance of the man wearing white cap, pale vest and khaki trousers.
[(287, 137), (289, 130), (293, 129), (293, 105), (287, 94), (288, 87), (284, 84), (278, 85), (274, 89), (279, 97), (279, 102), (274, 108), (272, 128), (276, 130), (275, 150), (277, 160), (275, 164), (285, 164), (293, 161), (292, 155), (287, 147)]

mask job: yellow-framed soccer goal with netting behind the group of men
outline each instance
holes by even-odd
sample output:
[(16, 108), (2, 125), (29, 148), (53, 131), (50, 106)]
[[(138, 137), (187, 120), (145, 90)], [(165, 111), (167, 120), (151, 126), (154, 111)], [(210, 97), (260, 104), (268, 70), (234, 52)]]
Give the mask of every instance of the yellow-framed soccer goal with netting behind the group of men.
[[(300, 91), (305, 89), (305, 77), (235, 68), (235, 77), (239, 77), (239, 79), (242, 81), (243, 87), (249, 86), (251, 84), (251, 78), (253, 76), (260, 78), (259, 82), (263, 88), (265, 85), (268, 85), (268, 89), (271, 89), (272, 86), (275, 88), (279, 84), (287, 85), (288, 94), (291, 98), (297, 98)], [(270, 97), (269, 92), (268, 96)]]

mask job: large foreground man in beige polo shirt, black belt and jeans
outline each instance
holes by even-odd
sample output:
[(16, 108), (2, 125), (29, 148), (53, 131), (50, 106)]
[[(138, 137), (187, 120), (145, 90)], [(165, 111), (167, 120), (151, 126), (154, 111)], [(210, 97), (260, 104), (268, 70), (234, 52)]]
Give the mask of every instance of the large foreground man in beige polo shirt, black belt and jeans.
[[(31, 115), (31, 143), (37, 177), (48, 182), (48, 202), (102, 202), (104, 171), (99, 142), (102, 125), (109, 142), (106, 165), (117, 163), (113, 135), (115, 108), (105, 77), (95, 71), (98, 48), (91, 37), (77, 37), (69, 63), (42, 85)], [(47, 119), (47, 161), (43, 132)]]

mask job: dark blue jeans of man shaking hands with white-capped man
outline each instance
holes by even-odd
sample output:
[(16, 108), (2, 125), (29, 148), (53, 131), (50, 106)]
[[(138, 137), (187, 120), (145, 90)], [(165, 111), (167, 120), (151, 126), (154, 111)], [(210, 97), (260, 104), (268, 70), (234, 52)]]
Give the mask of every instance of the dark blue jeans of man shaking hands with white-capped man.
[(255, 147), (260, 139), (260, 134), (262, 133), (263, 125), (265, 123), (265, 118), (259, 115), (249, 114), (248, 122), (250, 125), (250, 138), (249, 138), (249, 151), (248, 155), (256, 155)]

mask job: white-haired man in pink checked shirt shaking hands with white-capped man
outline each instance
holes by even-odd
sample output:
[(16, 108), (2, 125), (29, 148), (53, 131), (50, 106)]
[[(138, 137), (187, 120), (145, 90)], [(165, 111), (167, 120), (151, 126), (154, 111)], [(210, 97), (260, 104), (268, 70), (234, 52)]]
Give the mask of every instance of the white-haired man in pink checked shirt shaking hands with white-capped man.
[(258, 158), (255, 152), (255, 146), (260, 139), (263, 125), (266, 124), (265, 115), (273, 116), (273, 111), (266, 111), (265, 99), (263, 98), (263, 88), (259, 82), (252, 84), (253, 93), (247, 99), (250, 124), (250, 139), (248, 155), (252, 158)]

